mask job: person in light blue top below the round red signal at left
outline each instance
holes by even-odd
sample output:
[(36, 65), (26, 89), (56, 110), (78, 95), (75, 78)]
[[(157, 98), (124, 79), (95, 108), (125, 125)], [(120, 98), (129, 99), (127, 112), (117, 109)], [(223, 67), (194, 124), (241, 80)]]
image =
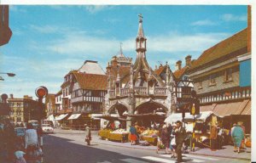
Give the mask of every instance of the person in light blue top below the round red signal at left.
[(27, 163), (37, 163), (38, 160), (38, 133), (31, 123), (26, 125), (25, 149)]

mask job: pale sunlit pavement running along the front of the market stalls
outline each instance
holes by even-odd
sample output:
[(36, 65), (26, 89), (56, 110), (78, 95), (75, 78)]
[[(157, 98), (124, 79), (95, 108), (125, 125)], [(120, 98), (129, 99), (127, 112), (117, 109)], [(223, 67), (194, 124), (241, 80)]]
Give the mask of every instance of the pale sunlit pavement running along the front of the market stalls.
[[(84, 134), (84, 131), (75, 131), (75, 130), (61, 130), (55, 129), (55, 132), (58, 133), (70, 133), (70, 134)], [(92, 132), (92, 143), (100, 143), (104, 145), (123, 147), (129, 149), (145, 149), (145, 150), (156, 150), (156, 146), (141, 146), (141, 145), (131, 145), (131, 143), (120, 143), (113, 142), (108, 140), (102, 140), (98, 137), (97, 132)], [(211, 149), (196, 149), (195, 152), (189, 152), (190, 155), (203, 155), (203, 156), (213, 156), (221, 158), (230, 158), (230, 159), (240, 159), (240, 160), (251, 160), (251, 148), (241, 150), (241, 153), (237, 154), (234, 151), (233, 146), (227, 145), (223, 149), (212, 151)]]

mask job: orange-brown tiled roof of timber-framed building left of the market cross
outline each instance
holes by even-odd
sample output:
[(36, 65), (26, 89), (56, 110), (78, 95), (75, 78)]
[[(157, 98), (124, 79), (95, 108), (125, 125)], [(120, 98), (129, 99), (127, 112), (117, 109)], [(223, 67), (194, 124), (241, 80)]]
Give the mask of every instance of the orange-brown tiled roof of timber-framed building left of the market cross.
[(108, 76), (96, 74), (74, 73), (82, 89), (107, 90)]

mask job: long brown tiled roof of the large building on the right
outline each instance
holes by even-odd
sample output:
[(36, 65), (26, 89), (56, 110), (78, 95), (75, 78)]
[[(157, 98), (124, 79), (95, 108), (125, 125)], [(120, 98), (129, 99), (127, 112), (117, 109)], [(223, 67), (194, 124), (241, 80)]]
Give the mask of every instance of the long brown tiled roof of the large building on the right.
[(201, 56), (195, 60), (191, 69), (195, 69), (201, 65), (206, 65), (207, 63), (226, 56), (229, 53), (236, 52), (241, 48), (247, 47), (247, 28), (239, 31), (232, 37), (225, 39), (222, 42), (214, 45), (212, 48), (208, 48), (204, 51)]

